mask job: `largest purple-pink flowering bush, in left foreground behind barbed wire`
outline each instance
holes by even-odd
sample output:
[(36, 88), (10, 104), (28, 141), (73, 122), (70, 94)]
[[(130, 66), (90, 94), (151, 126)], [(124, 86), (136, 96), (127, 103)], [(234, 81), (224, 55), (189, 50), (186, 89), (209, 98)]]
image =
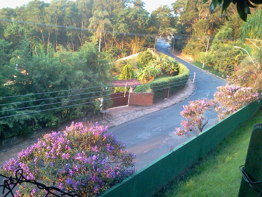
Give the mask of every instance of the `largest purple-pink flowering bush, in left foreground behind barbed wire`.
[[(133, 153), (116, 140), (107, 127), (91, 123), (72, 123), (63, 133), (45, 134), (45, 140), (23, 149), (16, 159), (3, 165), (2, 173), (14, 175), (19, 168), (27, 179), (35, 179), (82, 196), (101, 192), (132, 174)], [(54, 136), (54, 137), (52, 137)], [(34, 185), (20, 185), (17, 196), (45, 196)]]

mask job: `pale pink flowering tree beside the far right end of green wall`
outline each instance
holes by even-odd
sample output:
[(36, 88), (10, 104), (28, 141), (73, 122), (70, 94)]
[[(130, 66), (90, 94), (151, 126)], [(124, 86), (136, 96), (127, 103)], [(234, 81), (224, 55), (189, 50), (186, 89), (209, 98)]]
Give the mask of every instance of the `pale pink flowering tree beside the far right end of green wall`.
[(218, 104), (215, 110), (219, 113), (220, 120), (241, 107), (260, 99), (259, 93), (254, 92), (252, 87), (226, 84), (217, 87), (217, 90), (214, 94), (214, 99)]

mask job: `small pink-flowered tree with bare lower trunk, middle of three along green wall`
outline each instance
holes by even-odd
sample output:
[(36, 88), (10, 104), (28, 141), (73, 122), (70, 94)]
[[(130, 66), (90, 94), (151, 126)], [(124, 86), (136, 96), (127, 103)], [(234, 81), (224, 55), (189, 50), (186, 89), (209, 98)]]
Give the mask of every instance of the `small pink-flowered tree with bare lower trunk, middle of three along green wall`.
[(189, 101), (188, 105), (183, 105), (184, 110), (180, 114), (185, 118), (181, 122), (184, 129), (177, 127), (175, 134), (182, 137), (187, 135), (189, 137), (191, 135), (189, 132), (193, 132), (196, 135), (201, 133), (204, 126), (208, 123), (208, 119), (204, 117), (204, 112), (213, 110), (214, 105), (214, 101), (207, 99)]

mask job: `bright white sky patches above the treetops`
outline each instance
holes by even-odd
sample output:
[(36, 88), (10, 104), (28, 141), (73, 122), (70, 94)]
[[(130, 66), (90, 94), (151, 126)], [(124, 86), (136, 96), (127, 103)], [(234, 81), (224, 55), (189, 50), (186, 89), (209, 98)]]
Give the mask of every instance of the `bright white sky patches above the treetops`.
[[(50, 3), (51, 0), (43, 0), (44, 2)], [(143, 0), (142, 0), (143, 1)], [(28, 3), (29, 0), (1, 0), (0, 1), (0, 8), (15, 8), (16, 6), (22, 6), (23, 4)], [(171, 3), (174, 3), (175, 0), (144, 0), (145, 2), (145, 9), (151, 13), (153, 10), (158, 8), (160, 5), (168, 5), (171, 6)]]

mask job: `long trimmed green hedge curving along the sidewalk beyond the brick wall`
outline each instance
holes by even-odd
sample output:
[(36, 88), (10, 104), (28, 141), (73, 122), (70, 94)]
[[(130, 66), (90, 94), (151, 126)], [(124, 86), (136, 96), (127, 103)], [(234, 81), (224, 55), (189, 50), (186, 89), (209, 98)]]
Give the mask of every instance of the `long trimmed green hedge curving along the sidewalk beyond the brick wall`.
[(173, 94), (187, 83), (189, 79), (188, 68), (181, 63), (178, 63), (178, 66), (178, 75), (160, 79), (150, 84), (151, 90), (155, 93), (154, 101), (158, 100), (157, 98), (165, 97), (166, 88), (170, 87), (169, 93)]

